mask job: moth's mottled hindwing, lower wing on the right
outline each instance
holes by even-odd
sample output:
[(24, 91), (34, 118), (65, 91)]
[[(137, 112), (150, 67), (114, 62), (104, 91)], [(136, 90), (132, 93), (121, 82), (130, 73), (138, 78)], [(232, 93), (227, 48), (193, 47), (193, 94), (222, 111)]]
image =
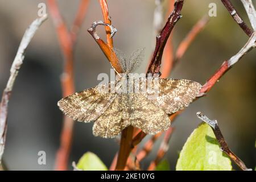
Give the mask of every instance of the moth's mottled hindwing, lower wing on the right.
[(158, 106), (147, 99), (146, 94), (129, 94), (131, 109), (131, 125), (147, 134), (156, 134), (167, 130), (171, 121), (168, 115)]

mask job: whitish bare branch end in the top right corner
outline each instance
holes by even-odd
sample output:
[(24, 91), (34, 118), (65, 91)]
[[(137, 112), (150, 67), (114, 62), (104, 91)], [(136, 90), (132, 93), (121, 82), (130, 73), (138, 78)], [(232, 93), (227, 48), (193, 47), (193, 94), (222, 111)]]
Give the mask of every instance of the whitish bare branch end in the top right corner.
[(256, 31), (256, 11), (251, 0), (241, 0), (243, 6), (245, 7), (246, 13), (249, 17), (251, 26), (253, 30)]

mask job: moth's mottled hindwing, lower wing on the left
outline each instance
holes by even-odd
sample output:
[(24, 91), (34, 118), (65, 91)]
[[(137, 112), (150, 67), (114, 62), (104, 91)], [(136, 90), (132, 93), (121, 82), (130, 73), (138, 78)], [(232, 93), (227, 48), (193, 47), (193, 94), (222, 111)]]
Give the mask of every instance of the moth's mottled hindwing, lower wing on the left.
[(93, 135), (113, 138), (130, 125), (127, 94), (117, 94), (112, 104), (94, 122)]

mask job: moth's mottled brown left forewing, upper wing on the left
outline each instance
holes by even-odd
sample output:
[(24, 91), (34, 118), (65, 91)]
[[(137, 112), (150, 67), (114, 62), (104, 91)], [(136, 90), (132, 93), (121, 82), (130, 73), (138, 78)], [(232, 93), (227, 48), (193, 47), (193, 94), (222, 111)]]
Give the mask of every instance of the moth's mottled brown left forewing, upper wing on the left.
[[(84, 90), (61, 99), (57, 105), (64, 114), (82, 122), (95, 121), (117, 97), (110, 93), (110, 83), (105, 84), (107, 92), (102, 92), (100, 86)], [(102, 85), (101, 85), (102, 86)]]

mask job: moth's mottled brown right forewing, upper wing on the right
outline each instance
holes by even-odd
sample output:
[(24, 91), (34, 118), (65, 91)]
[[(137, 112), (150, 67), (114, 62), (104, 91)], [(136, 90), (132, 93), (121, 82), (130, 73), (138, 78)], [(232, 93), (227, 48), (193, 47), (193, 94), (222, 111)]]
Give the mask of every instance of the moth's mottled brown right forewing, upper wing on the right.
[(187, 107), (196, 98), (201, 89), (201, 84), (191, 80), (163, 78), (158, 80), (159, 92), (156, 94), (157, 97), (151, 101), (167, 114), (176, 113)]

